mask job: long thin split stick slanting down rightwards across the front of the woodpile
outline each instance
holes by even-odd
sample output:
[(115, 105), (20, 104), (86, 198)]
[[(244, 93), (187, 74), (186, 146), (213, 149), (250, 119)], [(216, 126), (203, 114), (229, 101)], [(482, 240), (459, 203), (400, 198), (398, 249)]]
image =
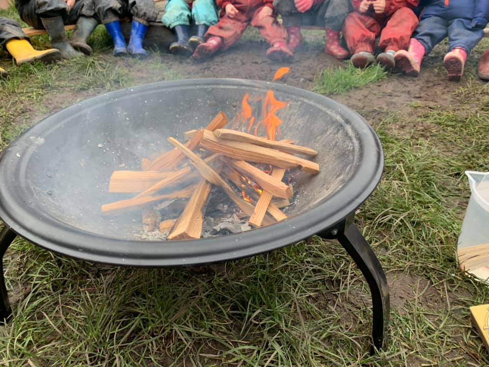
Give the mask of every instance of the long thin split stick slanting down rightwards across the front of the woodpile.
[[(208, 133), (214, 136), (211, 132)], [(253, 214), (253, 211), (255, 209), (253, 205), (237, 196), (233, 189), (228, 185), (228, 183), (210, 166), (208, 166), (207, 163), (205, 163), (197, 154), (195, 154), (193, 151), (185, 147), (182, 143), (174, 138), (168, 138), (168, 141), (185, 153), (185, 155), (193, 162), (195, 168), (201, 173), (202, 177), (204, 177), (213, 185), (221, 187), (226, 195), (229, 196), (229, 198), (241, 209), (241, 211), (243, 211), (248, 216), (251, 216)], [(263, 223), (265, 225), (273, 224), (274, 222), (275, 221), (273, 219), (266, 216), (263, 220)]]

